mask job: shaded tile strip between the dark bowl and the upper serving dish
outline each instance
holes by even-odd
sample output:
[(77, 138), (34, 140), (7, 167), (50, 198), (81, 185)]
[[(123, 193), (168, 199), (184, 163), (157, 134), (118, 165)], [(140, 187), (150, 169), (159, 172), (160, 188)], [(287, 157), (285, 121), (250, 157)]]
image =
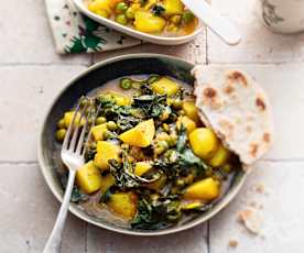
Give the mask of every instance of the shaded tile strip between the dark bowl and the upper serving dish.
[(100, 62), (113, 56), (124, 55), (124, 54), (135, 54), (135, 53), (156, 53), (156, 54), (167, 54), (172, 56), (177, 56), (188, 61), (193, 64), (205, 64), (206, 63), (206, 34), (203, 32), (193, 42), (184, 45), (177, 46), (160, 46), (153, 44), (143, 44), (134, 46), (132, 48), (127, 48), (123, 51), (104, 52), (95, 54), (94, 62)]

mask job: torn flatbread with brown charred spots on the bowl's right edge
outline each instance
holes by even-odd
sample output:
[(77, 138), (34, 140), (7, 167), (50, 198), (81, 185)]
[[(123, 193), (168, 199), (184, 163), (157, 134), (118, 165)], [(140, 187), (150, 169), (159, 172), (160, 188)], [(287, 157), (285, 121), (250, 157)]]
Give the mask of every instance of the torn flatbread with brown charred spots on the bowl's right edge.
[(273, 122), (264, 90), (249, 75), (224, 66), (197, 66), (196, 107), (202, 121), (224, 145), (250, 165), (273, 140)]

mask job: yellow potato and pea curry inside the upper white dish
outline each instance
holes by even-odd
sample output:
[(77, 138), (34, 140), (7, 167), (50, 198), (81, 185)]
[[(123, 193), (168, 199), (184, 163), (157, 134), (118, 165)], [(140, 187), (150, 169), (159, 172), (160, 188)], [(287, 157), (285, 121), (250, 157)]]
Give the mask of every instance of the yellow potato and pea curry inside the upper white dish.
[(197, 18), (181, 0), (85, 0), (89, 11), (139, 32), (181, 36), (195, 31)]

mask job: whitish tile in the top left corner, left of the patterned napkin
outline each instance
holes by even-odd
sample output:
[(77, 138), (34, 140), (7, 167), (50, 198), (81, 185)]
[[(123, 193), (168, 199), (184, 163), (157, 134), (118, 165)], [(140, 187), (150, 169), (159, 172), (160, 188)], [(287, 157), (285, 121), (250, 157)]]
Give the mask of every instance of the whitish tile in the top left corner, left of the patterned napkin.
[(44, 0), (1, 1), (1, 64), (89, 64), (90, 55), (58, 56)]

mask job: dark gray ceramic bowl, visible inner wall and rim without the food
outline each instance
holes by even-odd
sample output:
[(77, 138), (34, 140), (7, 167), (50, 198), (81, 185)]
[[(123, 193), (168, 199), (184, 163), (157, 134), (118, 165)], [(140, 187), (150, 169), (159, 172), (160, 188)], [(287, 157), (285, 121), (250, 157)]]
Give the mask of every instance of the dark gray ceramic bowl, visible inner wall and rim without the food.
[[(74, 78), (64, 90), (59, 92), (47, 114), (45, 116), (39, 141), (39, 162), (46, 184), (55, 197), (62, 201), (63, 189), (56, 174), (61, 166), (58, 146), (54, 141), (56, 122), (64, 111), (70, 109), (82, 95), (86, 95), (96, 87), (102, 86), (108, 80), (126, 75), (159, 74), (167, 75), (193, 85), (191, 69), (193, 65), (180, 58), (158, 54), (134, 54), (115, 57), (94, 65), (76, 78)], [(235, 173), (228, 190), (214, 207), (186, 223), (156, 231), (138, 231), (116, 227), (102, 219), (87, 215), (75, 204), (70, 204), (69, 210), (80, 219), (97, 227), (111, 231), (133, 235), (161, 235), (178, 232), (197, 226), (218, 213), (237, 195), (246, 179), (245, 173), (239, 169)]]

